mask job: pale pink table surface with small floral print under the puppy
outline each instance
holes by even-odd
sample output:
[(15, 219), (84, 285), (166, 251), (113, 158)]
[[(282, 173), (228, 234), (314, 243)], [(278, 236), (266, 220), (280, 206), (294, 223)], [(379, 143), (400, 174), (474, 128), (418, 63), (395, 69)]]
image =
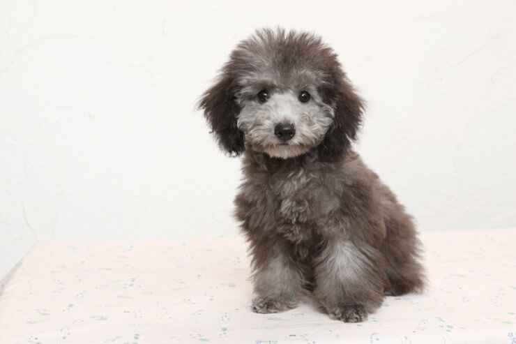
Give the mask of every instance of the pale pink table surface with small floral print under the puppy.
[(252, 313), (241, 238), (37, 244), (0, 283), (0, 343), (516, 343), (516, 229), (421, 239), (427, 291), (359, 324)]

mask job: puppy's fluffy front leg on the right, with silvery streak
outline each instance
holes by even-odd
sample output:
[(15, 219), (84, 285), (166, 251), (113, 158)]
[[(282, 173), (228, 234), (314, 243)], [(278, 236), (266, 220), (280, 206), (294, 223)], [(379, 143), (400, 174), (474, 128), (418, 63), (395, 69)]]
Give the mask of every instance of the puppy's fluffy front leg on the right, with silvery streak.
[(314, 296), (333, 319), (362, 322), (384, 299), (379, 252), (347, 239), (328, 241), (315, 260)]

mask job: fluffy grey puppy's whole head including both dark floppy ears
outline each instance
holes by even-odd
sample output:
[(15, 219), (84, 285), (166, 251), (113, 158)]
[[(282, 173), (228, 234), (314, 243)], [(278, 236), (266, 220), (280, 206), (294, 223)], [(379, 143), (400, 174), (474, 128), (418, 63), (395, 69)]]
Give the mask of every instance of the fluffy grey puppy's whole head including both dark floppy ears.
[(243, 40), (199, 101), (220, 147), (276, 158), (317, 149), (331, 160), (356, 139), (363, 102), (337, 55), (311, 33), (263, 29)]

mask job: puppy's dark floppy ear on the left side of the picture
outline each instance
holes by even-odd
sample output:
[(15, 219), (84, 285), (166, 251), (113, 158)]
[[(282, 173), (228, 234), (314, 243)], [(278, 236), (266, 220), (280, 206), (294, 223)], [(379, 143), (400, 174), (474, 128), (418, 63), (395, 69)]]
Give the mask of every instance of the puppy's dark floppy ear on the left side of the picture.
[(204, 92), (198, 107), (204, 110), (204, 117), (220, 149), (239, 156), (244, 150), (244, 137), (236, 126), (236, 117), (241, 109), (236, 103), (235, 91), (233, 78), (223, 71), (218, 82)]

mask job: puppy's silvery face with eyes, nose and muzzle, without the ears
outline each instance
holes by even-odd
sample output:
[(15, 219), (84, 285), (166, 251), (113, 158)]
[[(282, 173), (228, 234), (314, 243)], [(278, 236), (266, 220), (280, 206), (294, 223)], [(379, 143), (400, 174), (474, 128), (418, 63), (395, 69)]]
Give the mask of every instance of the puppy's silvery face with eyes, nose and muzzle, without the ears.
[(306, 153), (321, 143), (333, 123), (333, 108), (324, 103), (310, 70), (275, 72), (263, 66), (253, 75), (237, 77), (241, 107), (236, 124), (250, 149), (277, 158)]

